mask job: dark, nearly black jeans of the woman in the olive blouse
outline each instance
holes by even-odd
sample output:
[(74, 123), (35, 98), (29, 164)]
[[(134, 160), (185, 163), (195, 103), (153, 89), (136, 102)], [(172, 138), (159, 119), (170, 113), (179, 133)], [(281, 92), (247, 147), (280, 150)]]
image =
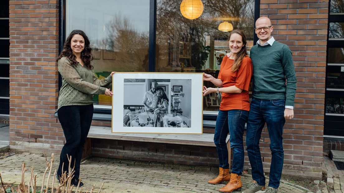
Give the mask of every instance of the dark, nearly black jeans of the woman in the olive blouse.
[(68, 173), (68, 157), (72, 156), (71, 168), (73, 168), (75, 161), (74, 178), (79, 179), (81, 156), (93, 117), (93, 104), (62, 106), (58, 109), (57, 114), (66, 137), (57, 175), (61, 177), (62, 171)]

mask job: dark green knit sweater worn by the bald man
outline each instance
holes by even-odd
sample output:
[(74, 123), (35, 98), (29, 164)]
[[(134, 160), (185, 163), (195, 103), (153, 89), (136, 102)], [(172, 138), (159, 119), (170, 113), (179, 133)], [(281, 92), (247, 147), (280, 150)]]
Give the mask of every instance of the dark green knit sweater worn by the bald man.
[(250, 58), (253, 64), (253, 97), (286, 99), (285, 105), (294, 106), (296, 77), (289, 47), (277, 41), (272, 46), (255, 45), (250, 50)]

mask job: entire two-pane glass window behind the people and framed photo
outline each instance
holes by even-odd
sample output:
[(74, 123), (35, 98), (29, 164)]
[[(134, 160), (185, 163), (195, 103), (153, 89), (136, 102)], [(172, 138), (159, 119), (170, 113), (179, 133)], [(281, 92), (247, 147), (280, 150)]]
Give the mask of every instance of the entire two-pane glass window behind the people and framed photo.
[[(150, 18), (152, 2), (67, 0), (66, 36), (74, 29), (85, 31), (93, 48), (97, 77), (106, 77), (111, 71), (148, 71), (149, 41), (155, 41), (150, 51), (155, 49), (156, 72), (206, 72), (217, 78), (229, 50), (229, 32), (218, 29), (223, 22), (245, 31), (248, 53), (253, 45), (254, 0), (202, 0), (204, 11), (195, 20), (182, 16), (181, 0), (156, 0), (156, 18)], [(156, 38), (149, 40), (154, 19)], [(205, 85), (214, 87), (209, 82)], [(216, 93), (208, 95), (204, 110), (217, 111), (220, 102)], [(111, 105), (111, 98), (96, 95), (94, 104)]]

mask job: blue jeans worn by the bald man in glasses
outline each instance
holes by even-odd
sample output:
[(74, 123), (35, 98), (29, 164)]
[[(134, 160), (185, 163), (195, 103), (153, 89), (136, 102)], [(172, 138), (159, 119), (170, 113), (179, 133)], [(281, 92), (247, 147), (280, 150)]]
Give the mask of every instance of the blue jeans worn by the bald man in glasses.
[(247, 121), (247, 154), (252, 168), (252, 178), (259, 185), (265, 185), (259, 140), (262, 129), (265, 123), (267, 124), (272, 155), (269, 186), (275, 189), (279, 186), (283, 168), (282, 134), (283, 125), (286, 122), (284, 119), (284, 103), (284, 99), (260, 100), (252, 98)]

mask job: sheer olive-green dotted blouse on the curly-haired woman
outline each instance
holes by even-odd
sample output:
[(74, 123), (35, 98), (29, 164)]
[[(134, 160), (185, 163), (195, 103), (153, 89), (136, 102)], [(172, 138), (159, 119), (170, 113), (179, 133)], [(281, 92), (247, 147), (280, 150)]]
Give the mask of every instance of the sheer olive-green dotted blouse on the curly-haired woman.
[(104, 94), (104, 86), (112, 82), (112, 77), (99, 80), (93, 70), (80, 64), (72, 66), (66, 57), (58, 60), (58, 71), (62, 76), (62, 86), (58, 95), (58, 109), (67, 105), (87, 105), (93, 103), (94, 94)]

